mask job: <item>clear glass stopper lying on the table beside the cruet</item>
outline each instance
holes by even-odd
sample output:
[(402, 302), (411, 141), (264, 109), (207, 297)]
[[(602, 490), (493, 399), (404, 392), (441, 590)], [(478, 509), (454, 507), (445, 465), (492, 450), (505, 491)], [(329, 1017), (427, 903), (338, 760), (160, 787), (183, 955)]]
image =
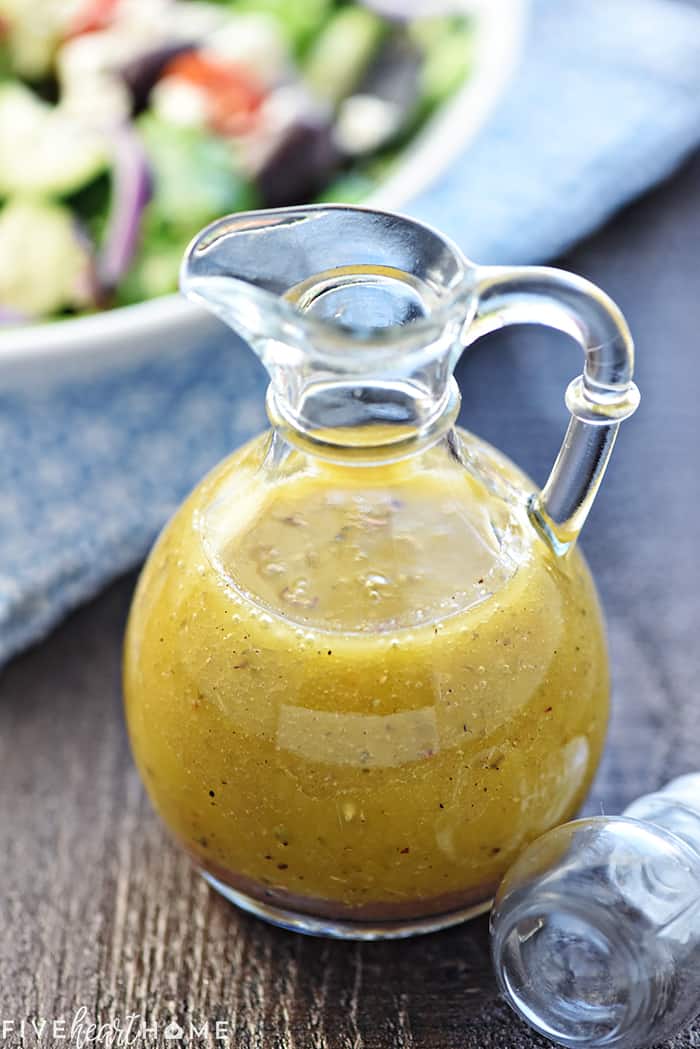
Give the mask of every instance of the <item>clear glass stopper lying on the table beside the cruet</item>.
[(491, 912), (499, 984), (569, 1049), (657, 1045), (700, 1009), (700, 773), (532, 842)]

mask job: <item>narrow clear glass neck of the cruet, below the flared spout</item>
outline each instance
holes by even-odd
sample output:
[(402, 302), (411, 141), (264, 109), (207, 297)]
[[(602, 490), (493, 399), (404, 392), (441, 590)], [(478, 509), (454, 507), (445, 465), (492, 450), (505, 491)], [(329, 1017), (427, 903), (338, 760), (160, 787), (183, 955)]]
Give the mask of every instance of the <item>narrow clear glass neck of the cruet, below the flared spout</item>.
[(365, 272), (314, 278), (294, 298), (296, 338), (258, 348), (271, 378), (268, 414), (290, 444), (330, 459), (390, 462), (449, 430), (460, 408), (452, 370), (462, 308), (413, 324), (415, 283)]

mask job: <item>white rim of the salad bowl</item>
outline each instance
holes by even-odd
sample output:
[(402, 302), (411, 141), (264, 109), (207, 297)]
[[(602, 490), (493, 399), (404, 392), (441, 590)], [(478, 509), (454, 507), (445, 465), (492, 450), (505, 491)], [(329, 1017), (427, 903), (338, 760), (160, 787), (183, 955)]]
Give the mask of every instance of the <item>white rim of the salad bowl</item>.
[[(362, 207), (397, 210), (428, 189), (474, 137), (510, 79), (521, 50), (529, 0), (460, 3), (476, 17), (471, 74), (401, 153), (396, 170), (361, 201)], [(459, 134), (454, 134), (455, 125)], [(85, 317), (13, 328), (0, 333), (0, 366), (101, 356), (105, 344), (116, 347), (133, 339), (162, 336), (165, 330), (196, 323), (204, 315), (200, 306), (173, 292)]]

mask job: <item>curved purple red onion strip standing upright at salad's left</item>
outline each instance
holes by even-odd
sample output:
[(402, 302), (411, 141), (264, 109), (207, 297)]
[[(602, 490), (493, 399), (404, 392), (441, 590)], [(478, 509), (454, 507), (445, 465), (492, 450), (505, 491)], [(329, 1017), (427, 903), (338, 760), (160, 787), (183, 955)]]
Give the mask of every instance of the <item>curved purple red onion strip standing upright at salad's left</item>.
[(129, 269), (139, 247), (141, 217), (151, 196), (151, 175), (141, 140), (128, 126), (113, 133), (112, 194), (98, 260), (103, 290), (115, 287)]

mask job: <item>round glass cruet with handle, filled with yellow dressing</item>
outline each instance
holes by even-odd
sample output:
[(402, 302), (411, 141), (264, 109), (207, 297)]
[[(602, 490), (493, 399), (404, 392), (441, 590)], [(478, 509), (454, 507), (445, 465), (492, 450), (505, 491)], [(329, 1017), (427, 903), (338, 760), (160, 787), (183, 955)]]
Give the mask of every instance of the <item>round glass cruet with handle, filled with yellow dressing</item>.
[[(278, 924), (373, 939), (478, 914), (603, 742), (575, 540), (638, 401), (624, 320), (580, 278), (476, 266), (343, 206), (214, 222), (182, 286), (259, 356), (272, 426), (139, 582), (124, 682), (150, 797), (211, 884)], [(454, 426), (464, 347), (522, 322), (585, 354), (542, 492)]]

